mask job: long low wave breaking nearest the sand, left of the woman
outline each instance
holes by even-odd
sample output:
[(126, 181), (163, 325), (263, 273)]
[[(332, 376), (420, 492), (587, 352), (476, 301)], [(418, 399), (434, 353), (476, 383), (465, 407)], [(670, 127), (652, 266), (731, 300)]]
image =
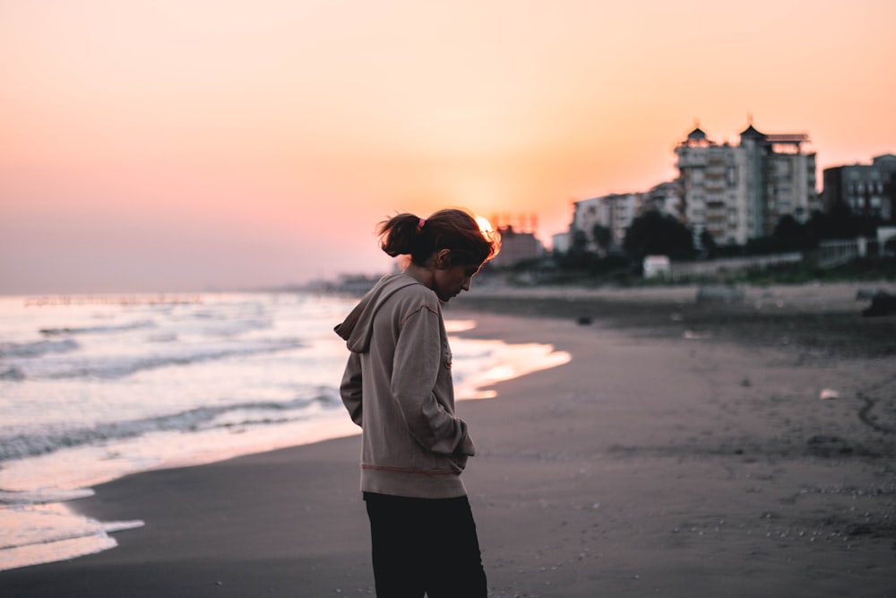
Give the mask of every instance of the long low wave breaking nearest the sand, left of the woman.
[(191, 432), (241, 425), (284, 423), (302, 419), (301, 413), (290, 412), (302, 411), (312, 405), (321, 405), (325, 408), (340, 406), (339, 392), (335, 388), (321, 386), (314, 389), (309, 396), (282, 403), (264, 401), (199, 407), (158, 417), (98, 424), (90, 428), (0, 435), (0, 462), (46, 455), (62, 448), (135, 438), (152, 432)]

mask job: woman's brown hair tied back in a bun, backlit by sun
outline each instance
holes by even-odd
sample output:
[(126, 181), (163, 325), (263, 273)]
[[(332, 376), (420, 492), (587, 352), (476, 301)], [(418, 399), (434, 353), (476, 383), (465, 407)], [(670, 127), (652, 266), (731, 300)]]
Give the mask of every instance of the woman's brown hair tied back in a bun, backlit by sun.
[(480, 265), (496, 256), (501, 236), (494, 230), (480, 230), (469, 212), (456, 208), (439, 210), (429, 218), (403, 213), (380, 222), (380, 247), (392, 257), (410, 256), (410, 261), (426, 265), (435, 252), (449, 249), (452, 265)]

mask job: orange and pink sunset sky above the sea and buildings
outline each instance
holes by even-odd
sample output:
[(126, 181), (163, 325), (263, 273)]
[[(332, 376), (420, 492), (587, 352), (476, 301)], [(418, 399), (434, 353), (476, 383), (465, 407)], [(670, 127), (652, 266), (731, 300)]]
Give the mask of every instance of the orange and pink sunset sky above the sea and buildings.
[(377, 222), (537, 221), (699, 125), (896, 153), (896, 2), (0, 0), (0, 293), (384, 273)]

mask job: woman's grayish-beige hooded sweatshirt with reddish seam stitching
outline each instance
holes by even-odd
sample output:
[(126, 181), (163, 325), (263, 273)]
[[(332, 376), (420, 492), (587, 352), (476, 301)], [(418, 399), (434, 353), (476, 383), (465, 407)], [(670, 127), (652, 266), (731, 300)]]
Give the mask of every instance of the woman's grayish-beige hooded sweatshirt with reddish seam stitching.
[(349, 347), (340, 394), (364, 430), (361, 490), (413, 498), (464, 496), (475, 450), (454, 416), (442, 305), (408, 274), (376, 283), (336, 326)]

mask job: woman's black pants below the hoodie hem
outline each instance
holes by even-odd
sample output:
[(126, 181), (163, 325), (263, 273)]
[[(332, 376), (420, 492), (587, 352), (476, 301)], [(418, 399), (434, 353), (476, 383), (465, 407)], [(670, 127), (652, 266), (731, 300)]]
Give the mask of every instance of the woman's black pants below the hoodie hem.
[(364, 493), (377, 598), (485, 598), (476, 524), (467, 497)]

